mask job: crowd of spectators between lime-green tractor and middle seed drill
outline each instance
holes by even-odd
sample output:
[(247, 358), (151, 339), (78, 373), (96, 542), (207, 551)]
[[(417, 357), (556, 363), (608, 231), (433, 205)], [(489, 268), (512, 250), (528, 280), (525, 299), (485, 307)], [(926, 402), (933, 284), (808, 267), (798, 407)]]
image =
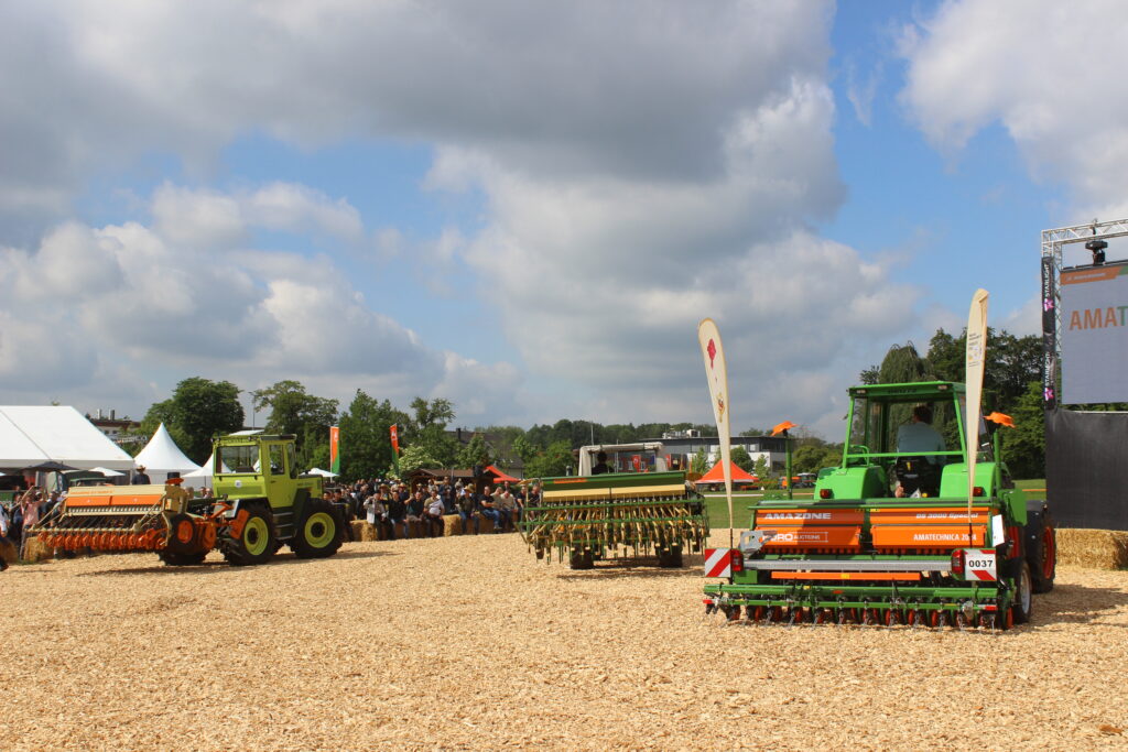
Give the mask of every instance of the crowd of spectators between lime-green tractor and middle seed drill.
[[(481, 488), (481, 490), (478, 490)], [(443, 516), (457, 514), (462, 532), (502, 532), (521, 520), (530, 501), (539, 498), (539, 486), (474, 486), (461, 480), (421, 483), (412, 490), (406, 483), (370, 478), (325, 492), (346, 520), (367, 520), (384, 531), (384, 538), (409, 538), (413, 525), (428, 537), (442, 536)]]

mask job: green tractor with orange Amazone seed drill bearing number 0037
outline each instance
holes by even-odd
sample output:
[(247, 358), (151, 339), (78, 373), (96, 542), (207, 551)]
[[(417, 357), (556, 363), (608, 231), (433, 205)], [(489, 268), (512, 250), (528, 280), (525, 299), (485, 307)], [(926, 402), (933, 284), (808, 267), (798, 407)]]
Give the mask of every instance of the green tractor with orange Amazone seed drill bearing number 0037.
[[(882, 623), (1006, 629), (1052, 589), (1054, 522), (1015, 487), (998, 426), (963, 436), (961, 383), (854, 387), (841, 463), (811, 501), (776, 494), (750, 506), (734, 549), (708, 549), (707, 612), (751, 622)], [(948, 426), (938, 443), (906, 448)], [(1003, 424), (1006, 416), (993, 414)], [(905, 426), (915, 426), (906, 428)], [(968, 458), (976, 452), (968, 499)]]

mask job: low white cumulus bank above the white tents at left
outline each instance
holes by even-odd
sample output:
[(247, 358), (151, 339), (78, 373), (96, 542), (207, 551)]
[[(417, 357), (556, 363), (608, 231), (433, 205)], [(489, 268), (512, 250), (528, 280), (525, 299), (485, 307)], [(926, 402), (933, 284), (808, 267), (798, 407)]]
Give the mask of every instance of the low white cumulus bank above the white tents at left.
[[(151, 227), (68, 222), (35, 249), (0, 250), (6, 388), (41, 400), (59, 390), (92, 397), (132, 369), (134, 398), (152, 391), (136, 373), (192, 371), (248, 387), (297, 378), (338, 398), (361, 387), (403, 402), (461, 382), (479, 412), (496, 407), (494, 397), (512, 401), (501, 393), (520, 387), (512, 366), (428, 347), (372, 310), (332, 259), (231, 245), (271, 224), (244, 211), (261, 195), (165, 185)], [(188, 233), (185, 218), (215, 221)], [(490, 380), (499, 388), (474, 388)]]

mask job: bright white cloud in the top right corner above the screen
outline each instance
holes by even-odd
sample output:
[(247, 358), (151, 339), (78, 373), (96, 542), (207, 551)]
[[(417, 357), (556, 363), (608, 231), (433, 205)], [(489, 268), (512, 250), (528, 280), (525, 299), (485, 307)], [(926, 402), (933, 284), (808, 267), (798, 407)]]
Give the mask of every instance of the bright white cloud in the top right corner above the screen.
[(1128, 101), (1110, 96), (1128, 65), (1111, 29), (1117, 0), (959, 0), (905, 30), (902, 100), (925, 135), (955, 151), (1001, 123), (1031, 172), (1074, 192), (1077, 211), (1128, 212)]

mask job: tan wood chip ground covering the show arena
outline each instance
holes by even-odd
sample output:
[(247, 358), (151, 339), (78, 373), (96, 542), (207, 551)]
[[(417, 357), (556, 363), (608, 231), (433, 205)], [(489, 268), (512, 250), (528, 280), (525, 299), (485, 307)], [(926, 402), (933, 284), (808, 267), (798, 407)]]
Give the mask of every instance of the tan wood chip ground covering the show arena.
[[(717, 543), (726, 532), (714, 533)], [(288, 550), (288, 549), (287, 549)], [(0, 574), (9, 750), (1128, 745), (1128, 572), (1061, 567), (1012, 632), (724, 627), (682, 570), (517, 536), (324, 560)]]

